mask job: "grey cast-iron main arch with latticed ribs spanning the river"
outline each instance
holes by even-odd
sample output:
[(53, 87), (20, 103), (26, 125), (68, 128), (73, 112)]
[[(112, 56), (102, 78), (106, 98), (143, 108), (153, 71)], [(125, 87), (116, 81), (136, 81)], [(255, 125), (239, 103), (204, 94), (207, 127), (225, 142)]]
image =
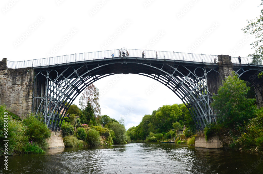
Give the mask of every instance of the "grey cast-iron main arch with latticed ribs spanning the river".
[[(143, 75), (167, 86), (186, 105), (197, 129), (203, 130), (206, 124), (216, 122), (210, 108), (211, 94), (206, 85), (205, 67), (193, 68), (165, 62), (147, 64), (122, 59), (101, 65), (84, 63), (56, 70), (38, 70), (35, 77), (38, 82), (35, 80), (35, 83), (43, 84), (45, 91), (44, 94), (41, 91), (41, 94), (34, 96), (36, 109), (34, 111), (33, 106), (32, 110), (42, 115), (52, 130), (60, 130), (69, 106), (87, 86), (106, 76), (120, 73)], [(35, 86), (39, 88), (39, 85)]]

